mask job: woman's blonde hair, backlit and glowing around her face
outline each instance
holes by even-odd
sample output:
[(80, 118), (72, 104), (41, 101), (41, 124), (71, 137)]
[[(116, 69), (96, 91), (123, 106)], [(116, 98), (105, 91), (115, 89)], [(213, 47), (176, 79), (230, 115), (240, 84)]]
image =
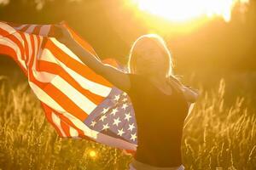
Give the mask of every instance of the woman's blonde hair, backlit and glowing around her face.
[(172, 55), (169, 51), (169, 49), (166, 46), (166, 42), (164, 39), (157, 34), (146, 34), (141, 37), (138, 37), (135, 42), (133, 42), (131, 46), (130, 53), (128, 55), (128, 71), (131, 73), (131, 71), (135, 68), (135, 65), (137, 65), (137, 57), (139, 54), (135, 54), (134, 50), (137, 47), (138, 42), (147, 41), (147, 42), (154, 42), (154, 46), (158, 47), (160, 49), (160, 52), (166, 56), (166, 62), (163, 63), (166, 77), (173, 77), (173, 62), (172, 62)]

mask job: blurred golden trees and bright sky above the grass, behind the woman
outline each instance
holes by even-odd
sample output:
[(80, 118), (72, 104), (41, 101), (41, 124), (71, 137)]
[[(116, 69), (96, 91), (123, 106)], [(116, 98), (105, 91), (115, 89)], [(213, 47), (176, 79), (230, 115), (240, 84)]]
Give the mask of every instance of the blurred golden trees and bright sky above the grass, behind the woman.
[[(158, 33), (172, 51), (176, 74), (183, 76), (184, 82), (211, 88), (224, 77), (229, 82), (227, 95), (256, 93), (255, 0), (196, 0), (192, 4), (165, 0), (0, 0), (0, 20), (28, 24), (66, 20), (102, 59), (118, 59), (123, 65), (137, 37)], [(25, 79), (11, 59), (0, 57), (0, 65), (0, 74), (18, 82)], [(256, 99), (255, 95), (252, 98)]]

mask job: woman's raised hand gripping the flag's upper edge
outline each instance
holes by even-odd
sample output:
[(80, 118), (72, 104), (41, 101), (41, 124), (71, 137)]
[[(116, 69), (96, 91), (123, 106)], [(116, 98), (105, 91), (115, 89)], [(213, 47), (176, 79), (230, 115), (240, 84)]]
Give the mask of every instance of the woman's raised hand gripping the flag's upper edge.
[(55, 25), (55, 38), (65, 45), (73, 42), (73, 37), (71, 33), (61, 25)]

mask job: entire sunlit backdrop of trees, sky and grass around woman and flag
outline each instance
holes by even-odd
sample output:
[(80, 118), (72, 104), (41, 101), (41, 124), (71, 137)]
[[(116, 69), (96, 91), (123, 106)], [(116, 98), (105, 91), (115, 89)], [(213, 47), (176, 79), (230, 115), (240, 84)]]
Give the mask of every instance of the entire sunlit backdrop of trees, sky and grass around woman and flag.
[[(0, 20), (66, 20), (101, 59), (122, 65), (137, 37), (159, 34), (175, 74), (201, 90), (184, 125), (186, 169), (256, 169), (256, 0), (0, 0)], [(23, 72), (3, 55), (0, 113), (0, 169), (122, 170), (131, 161), (116, 148), (61, 139)]]

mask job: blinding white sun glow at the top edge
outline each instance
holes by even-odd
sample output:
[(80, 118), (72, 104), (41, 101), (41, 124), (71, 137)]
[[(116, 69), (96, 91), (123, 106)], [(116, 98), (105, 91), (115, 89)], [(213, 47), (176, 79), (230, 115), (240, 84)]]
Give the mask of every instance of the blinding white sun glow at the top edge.
[(249, 0), (132, 0), (138, 8), (173, 22), (185, 22), (199, 17), (220, 16), (230, 21), (236, 3), (246, 4)]

